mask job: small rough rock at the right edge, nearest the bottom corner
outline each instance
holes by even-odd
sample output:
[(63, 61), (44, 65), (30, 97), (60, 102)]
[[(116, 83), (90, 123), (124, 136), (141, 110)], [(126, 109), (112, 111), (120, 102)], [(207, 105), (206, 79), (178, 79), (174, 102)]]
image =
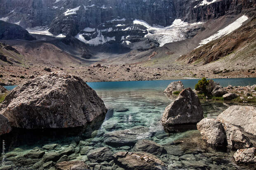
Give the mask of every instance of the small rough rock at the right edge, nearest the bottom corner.
[(256, 147), (239, 149), (233, 157), (237, 163), (256, 163)]

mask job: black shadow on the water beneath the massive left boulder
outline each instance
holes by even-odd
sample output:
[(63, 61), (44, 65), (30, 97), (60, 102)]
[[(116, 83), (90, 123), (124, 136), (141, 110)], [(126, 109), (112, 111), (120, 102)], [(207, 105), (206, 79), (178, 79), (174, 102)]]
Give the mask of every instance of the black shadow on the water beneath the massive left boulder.
[[(12, 132), (1, 135), (6, 151), (11, 151), (20, 146), (38, 146), (45, 143), (70, 143), (79, 142), (81, 139), (90, 138), (92, 132), (99, 130), (105, 115), (99, 116), (84, 127), (77, 128), (47, 128), (47, 129), (22, 129), (14, 128)], [(2, 145), (1, 145), (2, 150)]]

